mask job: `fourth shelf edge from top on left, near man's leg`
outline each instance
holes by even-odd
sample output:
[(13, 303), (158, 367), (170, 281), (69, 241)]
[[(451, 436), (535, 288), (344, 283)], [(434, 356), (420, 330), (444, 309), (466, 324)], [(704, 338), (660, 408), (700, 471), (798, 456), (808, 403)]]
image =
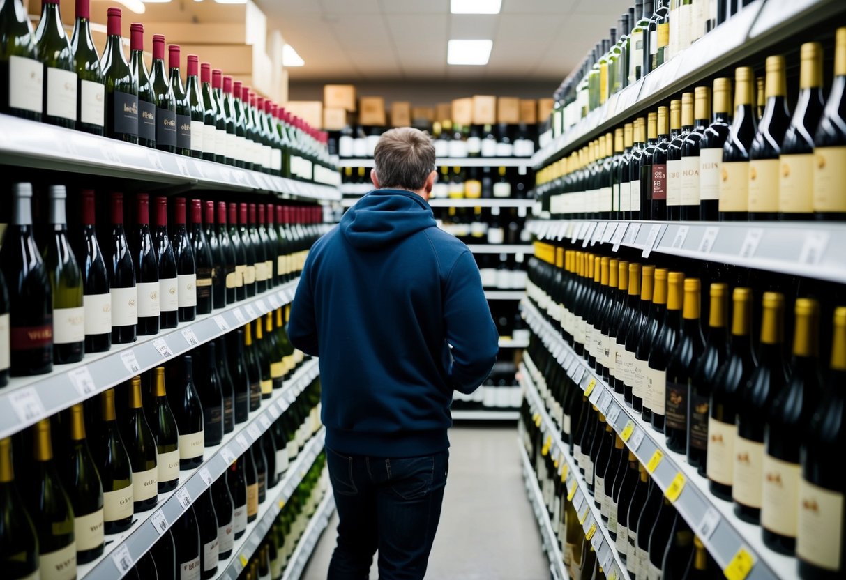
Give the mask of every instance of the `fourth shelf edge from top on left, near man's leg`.
[[(288, 466), (288, 471), (283, 480), (277, 484), (277, 494), (268, 494), (265, 501), (259, 504), (258, 517), (254, 522), (248, 523), (244, 535), (235, 540), (232, 555), (227, 560), (218, 562), (215, 577), (237, 580), (241, 571), (244, 570), (244, 562), (249, 562), (255, 550), (258, 550), (261, 540), (272, 527), (279, 512), (294, 495), (299, 482), (303, 480), (317, 456), (323, 451), (324, 436), (325, 428), (321, 428), (317, 435), (305, 444), (303, 451), (299, 452), (299, 456), (294, 460), (294, 463)], [(331, 490), (327, 494), (332, 495)]]

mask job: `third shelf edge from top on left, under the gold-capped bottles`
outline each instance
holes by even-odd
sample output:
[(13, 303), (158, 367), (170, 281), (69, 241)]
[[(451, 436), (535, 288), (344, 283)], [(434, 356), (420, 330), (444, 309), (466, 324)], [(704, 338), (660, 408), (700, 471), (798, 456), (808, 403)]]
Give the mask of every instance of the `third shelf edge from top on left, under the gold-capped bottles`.
[(317, 361), (303, 364), (288, 384), (278, 389), (272, 398), (262, 402), (261, 409), (250, 419), (235, 426), (223, 437), (220, 445), (206, 447), (205, 461), (199, 468), (181, 472), (179, 487), (162, 494), (157, 510), (136, 514), (135, 523), (124, 533), (107, 536), (106, 550), (91, 563), (79, 566), (78, 577), (89, 580), (117, 580), (124, 577), (152, 544), (175, 523), (211, 484), (232, 465), (235, 458), (246, 451), (296, 400), (319, 373)]

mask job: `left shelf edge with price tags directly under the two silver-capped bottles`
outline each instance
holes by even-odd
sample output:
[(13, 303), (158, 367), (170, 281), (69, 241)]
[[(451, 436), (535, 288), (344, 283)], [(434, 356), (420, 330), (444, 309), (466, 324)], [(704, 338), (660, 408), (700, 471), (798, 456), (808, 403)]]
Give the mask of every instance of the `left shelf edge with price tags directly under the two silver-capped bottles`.
[(199, 315), (175, 329), (114, 345), (107, 353), (86, 355), (79, 363), (55, 365), (46, 375), (9, 380), (8, 386), (0, 390), (0, 438), (290, 303), (298, 282), (299, 278), (226, 309), (212, 310), (210, 315)]

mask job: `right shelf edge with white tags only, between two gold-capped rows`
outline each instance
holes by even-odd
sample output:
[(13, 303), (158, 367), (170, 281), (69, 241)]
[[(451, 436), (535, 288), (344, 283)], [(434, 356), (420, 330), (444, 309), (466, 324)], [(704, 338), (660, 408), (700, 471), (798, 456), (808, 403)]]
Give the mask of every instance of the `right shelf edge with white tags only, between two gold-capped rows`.
[(537, 220), (541, 240), (610, 243), (694, 260), (846, 283), (846, 224), (832, 222), (626, 222)]

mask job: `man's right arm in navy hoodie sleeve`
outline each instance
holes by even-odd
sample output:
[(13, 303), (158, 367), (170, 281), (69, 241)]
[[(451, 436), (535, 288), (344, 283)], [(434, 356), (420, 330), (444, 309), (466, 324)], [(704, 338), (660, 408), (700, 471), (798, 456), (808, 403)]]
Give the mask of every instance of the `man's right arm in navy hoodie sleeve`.
[(449, 273), (443, 302), (447, 342), (452, 345), (451, 386), (471, 393), (497, 362), (499, 336), (473, 254), (465, 251)]

